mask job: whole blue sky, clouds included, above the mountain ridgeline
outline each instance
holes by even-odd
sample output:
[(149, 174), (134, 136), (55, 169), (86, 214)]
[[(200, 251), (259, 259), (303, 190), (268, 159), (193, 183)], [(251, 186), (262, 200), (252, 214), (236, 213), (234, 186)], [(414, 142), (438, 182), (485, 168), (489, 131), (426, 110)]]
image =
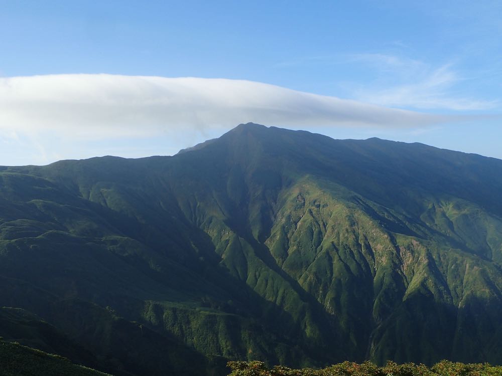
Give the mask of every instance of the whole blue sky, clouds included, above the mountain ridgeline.
[(247, 121), (502, 158), (500, 1), (0, 9), (0, 165), (169, 155)]

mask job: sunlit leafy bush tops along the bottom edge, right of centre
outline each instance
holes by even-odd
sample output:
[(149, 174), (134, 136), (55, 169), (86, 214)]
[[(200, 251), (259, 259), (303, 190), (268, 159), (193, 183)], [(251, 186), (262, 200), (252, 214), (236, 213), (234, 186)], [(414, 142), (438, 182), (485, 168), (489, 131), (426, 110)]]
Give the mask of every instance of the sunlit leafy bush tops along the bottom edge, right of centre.
[(464, 364), (442, 360), (427, 367), (424, 364), (387, 362), (379, 367), (365, 361), (362, 364), (344, 361), (323, 369), (292, 369), (281, 365), (268, 368), (263, 361), (229, 361), (228, 376), (502, 376), (502, 366), (487, 363)]

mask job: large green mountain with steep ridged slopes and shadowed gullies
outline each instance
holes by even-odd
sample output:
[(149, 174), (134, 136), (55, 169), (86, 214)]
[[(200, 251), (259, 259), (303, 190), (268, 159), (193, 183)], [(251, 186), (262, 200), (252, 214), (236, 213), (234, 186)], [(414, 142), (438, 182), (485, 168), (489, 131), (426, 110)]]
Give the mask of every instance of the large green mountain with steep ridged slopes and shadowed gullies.
[(501, 192), (502, 160), (252, 123), (171, 157), (0, 167), (0, 305), (117, 376), (500, 364)]

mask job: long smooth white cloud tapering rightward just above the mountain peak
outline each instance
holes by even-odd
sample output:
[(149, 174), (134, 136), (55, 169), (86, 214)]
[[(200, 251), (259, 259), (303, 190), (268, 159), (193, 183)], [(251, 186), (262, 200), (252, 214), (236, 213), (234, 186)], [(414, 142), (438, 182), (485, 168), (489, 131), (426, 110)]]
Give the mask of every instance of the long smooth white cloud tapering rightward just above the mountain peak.
[(415, 128), (450, 120), (244, 80), (107, 74), (0, 78), (4, 134), (107, 139), (229, 129), (249, 121), (291, 128)]

